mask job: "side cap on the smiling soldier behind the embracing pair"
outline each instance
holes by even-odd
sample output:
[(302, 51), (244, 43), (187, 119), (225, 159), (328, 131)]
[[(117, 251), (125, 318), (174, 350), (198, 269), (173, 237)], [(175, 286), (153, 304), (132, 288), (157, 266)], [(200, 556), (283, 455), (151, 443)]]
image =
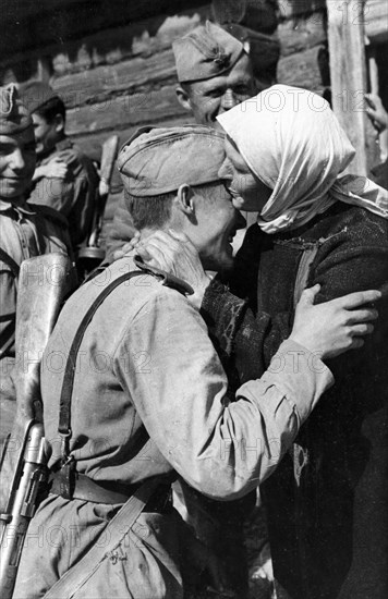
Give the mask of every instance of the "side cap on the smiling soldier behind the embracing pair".
[(244, 46), (228, 32), (206, 21), (172, 44), (180, 83), (210, 80), (229, 71)]

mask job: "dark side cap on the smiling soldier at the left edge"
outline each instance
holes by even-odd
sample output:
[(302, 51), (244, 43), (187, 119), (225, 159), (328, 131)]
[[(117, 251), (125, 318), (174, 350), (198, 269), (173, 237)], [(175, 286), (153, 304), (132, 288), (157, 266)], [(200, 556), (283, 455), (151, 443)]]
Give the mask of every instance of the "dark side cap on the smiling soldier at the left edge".
[(0, 87), (0, 135), (15, 135), (33, 127), (33, 120), (23, 106), (14, 84)]

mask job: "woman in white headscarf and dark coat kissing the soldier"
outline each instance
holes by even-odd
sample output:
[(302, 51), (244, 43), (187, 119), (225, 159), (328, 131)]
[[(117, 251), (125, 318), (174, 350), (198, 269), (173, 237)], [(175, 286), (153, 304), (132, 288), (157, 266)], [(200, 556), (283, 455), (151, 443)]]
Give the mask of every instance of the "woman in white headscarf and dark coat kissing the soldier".
[[(387, 284), (388, 194), (364, 176), (339, 178), (354, 149), (311, 91), (276, 85), (218, 120), (220, 178), (234, 206), (258, 219), (229, 286), (216, 278), (206, 288), (202, 314), (241, 383), (259, 377), (290, 334), (305, 286), (319, 283), (324, 302)], [(187, 247), (179, 235), (165, 246), (183, 279), (195, 254)], [(379, 313), (365, 346), (331, 360), (335, 387), (263, 486), (275, 576), (293, 599), (388, 597), (386, 300)]]

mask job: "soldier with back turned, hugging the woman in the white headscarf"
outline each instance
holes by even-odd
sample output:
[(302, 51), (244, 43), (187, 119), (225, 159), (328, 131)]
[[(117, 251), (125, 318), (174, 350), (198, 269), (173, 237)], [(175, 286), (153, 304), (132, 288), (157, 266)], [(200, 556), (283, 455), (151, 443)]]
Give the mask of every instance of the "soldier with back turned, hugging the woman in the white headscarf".
[[(204, 268), (230, 267), (243, 223), (218, 181), (222, 160), (223, 136), (199, 125), (143, 129), (125, 144), (118, 164), (142, 236), (173, 228)], [(356, 305), (378, 296), (357, 294)], [(199, 300), (183, 280), (132, 254), (82, 285), (43, 357), (52, 487), (32, 521), (14, 597), (181, 599), (171, 480), (183, 477), (218, 500), (255, 489), (332, 383), (314, 352), (327, 358), (350, 341), (359, 346), (344, 326), (348, 298), (313, 300), (304, 293), (277, 354), (283, 368), (231, 396)]]

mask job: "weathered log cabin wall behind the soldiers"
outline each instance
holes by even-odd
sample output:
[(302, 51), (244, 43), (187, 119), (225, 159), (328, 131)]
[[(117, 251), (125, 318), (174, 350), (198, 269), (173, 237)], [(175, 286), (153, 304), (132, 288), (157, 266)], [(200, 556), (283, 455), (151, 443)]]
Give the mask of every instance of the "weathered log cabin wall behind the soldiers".
[(98, 159), (112, 132), (123, 142), (146, 123), (191, 121), (175, 99), (171, 42), (207, 17), (278, 36), (279, 83), (323, 91), (324, 9), (324, 0), (2, 0), (0, 81), (50, 83), (66, 105), (68, 134)]

